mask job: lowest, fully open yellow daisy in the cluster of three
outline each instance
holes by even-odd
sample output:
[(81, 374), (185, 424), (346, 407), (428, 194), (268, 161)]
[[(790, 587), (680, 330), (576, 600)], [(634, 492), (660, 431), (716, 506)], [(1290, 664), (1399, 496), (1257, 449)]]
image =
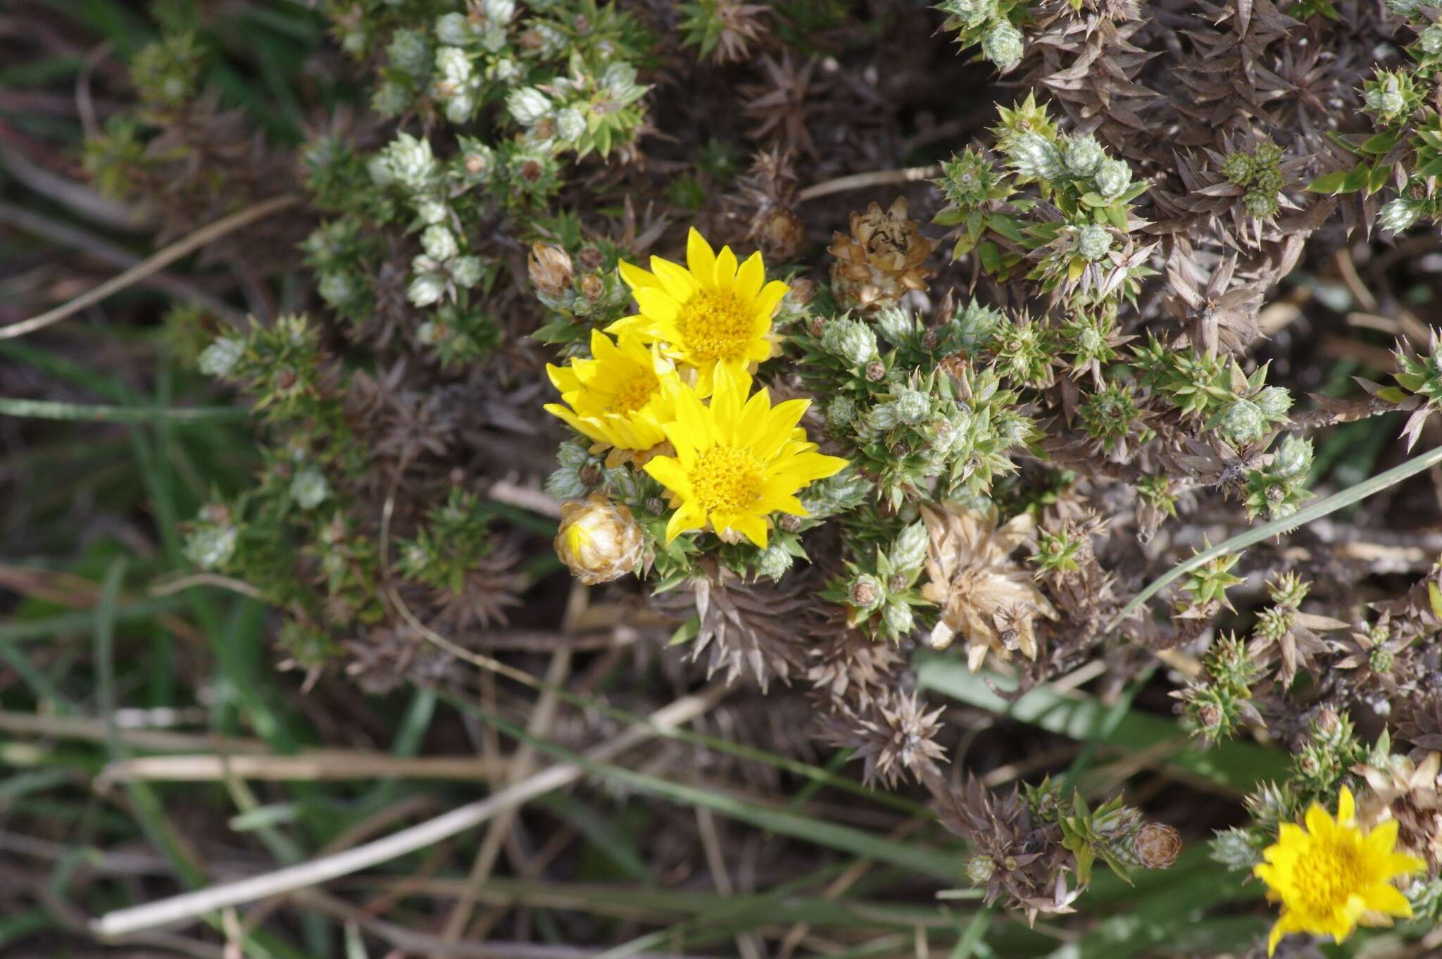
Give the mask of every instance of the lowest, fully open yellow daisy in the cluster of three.
[(818, 453), (796, 425), (809, 399), (773, 407), (766, 389), (747, 399), (748, 386), (748, 376), (720, 363), (709, 407), (692, 389), (676, 392), (676, 420), (662, 425), (676, 456), (653, 457), (645, 467), (676, 508), (666, 542), (709, 523), (727, 542), (746, 536), (764, 547), (767, 513), (806, 516), (796, 492), (845, 469), (846, 460)]

